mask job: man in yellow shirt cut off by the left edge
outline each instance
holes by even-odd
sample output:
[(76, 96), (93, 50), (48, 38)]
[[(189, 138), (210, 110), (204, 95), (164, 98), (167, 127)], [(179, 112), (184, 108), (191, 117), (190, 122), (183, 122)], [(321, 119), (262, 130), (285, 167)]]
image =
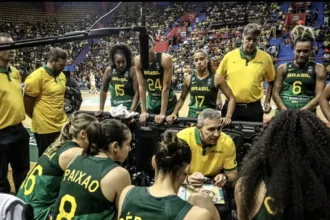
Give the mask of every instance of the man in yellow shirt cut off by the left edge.
[[(7, 33), (0, 33), (0, 43), (11, 43)], [(10, 65), (15, 50), (0, 51), (0, 193), (10, 193), (8, 164), (13, 171), (16, 192), (30, 169), (29, 134), (22, 125), (25, 119), (22, 81)]]

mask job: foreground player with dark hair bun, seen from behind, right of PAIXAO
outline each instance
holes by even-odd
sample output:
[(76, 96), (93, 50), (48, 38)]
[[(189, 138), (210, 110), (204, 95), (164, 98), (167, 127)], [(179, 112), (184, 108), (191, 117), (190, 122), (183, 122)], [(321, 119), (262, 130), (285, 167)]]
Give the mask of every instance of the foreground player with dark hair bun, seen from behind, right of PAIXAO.
[(171, 131), (152, 158), (156, 180), (151, 187), (126, 187), (119, 200), (118, 219), (220, 219), (211, 198), (193, 194), (189, 202), (177, 196), (191, 162), (189, 146)]

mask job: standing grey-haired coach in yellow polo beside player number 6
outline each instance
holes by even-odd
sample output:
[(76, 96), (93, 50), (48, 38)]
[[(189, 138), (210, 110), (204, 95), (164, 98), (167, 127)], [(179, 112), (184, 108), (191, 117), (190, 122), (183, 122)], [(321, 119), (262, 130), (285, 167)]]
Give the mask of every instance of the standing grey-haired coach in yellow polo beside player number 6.
[[(227, 78), (228, 85), (236, 99), (233, 121), (263, 122), (263, 113), (271, 111), (271, 87), (275, 78), (275, 68), (271, 56), (257, 49), (261, 30), (258, 24), (248, 24), (243, 30), (242, 46), (225, 55), (217, 73)], [(263, 82), (267, 81), (264, 109)], [(227, 113), (228, 102), (222, 108)]]

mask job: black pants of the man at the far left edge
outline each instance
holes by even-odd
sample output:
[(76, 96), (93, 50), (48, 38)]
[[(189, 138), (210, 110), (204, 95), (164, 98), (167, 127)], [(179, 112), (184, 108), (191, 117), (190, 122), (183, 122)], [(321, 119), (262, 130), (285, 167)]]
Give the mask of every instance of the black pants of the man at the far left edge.
[(0, 193), (10, 193), (8, 164), (16, 192), (30, 169), (30, 135), (22, 124), (0, 130)]

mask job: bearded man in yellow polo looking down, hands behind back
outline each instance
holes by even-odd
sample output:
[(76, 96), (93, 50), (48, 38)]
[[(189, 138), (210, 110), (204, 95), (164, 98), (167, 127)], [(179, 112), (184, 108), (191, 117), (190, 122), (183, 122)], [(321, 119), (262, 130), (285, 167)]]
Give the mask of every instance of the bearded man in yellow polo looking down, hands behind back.
[(47, 55), (47, 64), (36, 69), (25, 80), (24, 104), (26, 114), (32, 118), (39, 157), (60, 135), (62, 125), (68, 121), (64, 112), (66, 77), (62, 72), (67, 53), (54, 48)]

